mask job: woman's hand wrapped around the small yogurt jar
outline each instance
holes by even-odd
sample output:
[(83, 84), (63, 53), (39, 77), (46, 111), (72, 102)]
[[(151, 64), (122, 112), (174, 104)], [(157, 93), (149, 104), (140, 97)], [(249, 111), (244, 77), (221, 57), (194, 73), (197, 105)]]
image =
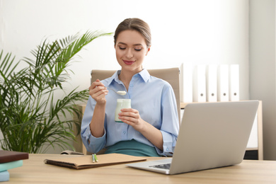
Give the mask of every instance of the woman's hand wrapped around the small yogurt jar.
[(139, 111), (133, 108), (121, 109), (121, 113), (119, 113), (119, 119), (122, 120), (122, 122), (127, 123), (127, 125), (131, 125), (139, 132), (144, 129), (146, 124), (146, 122), (140, 117)]

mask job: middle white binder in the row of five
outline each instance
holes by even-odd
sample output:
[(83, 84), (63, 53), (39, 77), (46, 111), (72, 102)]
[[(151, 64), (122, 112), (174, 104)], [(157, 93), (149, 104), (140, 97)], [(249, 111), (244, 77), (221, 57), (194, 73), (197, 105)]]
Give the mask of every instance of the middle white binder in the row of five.
[(217, 101), (217, 65), (206, 67), (206, 96), (207, 102)]

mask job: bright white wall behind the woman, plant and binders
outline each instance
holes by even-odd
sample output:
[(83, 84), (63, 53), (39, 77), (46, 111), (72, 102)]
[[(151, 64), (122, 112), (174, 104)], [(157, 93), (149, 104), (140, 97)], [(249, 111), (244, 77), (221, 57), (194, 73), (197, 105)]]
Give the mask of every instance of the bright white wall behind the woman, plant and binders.
[[(240, 98), (249, 98), (248, 0), (0, 0), (0, 48), (17, 59), (31, 57), (30, 50), (44, 38), (86, 30), (114, 32), (129, 17), (151, 26), (145, 68), (239, 64)], [(120, 69), (112, 37), (95, 40), (80, 55), (66, 88), (88, 88), (91, 69)]]

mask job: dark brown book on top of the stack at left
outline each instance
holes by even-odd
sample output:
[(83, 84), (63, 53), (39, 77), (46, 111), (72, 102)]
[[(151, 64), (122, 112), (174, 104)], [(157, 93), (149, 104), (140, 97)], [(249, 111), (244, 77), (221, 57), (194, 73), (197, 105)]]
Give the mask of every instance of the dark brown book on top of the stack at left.
[(0, 150), (0, 163), (29, 159), (29, 154), (19, 151)]

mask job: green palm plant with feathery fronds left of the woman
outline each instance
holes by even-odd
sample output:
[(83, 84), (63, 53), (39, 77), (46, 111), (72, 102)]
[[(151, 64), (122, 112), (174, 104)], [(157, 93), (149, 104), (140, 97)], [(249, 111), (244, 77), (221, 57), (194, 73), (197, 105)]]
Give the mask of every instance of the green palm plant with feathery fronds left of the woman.
[(73, 148), (68, 141), (74, 139), (72, 127), (79, 126), (79, 122), (71, 120), (71, 115), (79, 115), (74, 104), (87, 100), (88, 90), (74, 88), (58, 100), (54, 95), (63, 91), (62, 84), (69, 81), (72, 71), (68, 67), (74, 56), (94, 39), (106, 35), (111, 33), (88, 31), (50, 43), (46, 39), (32, 51), (34, 59), (23, 59), (28, 66), (19, 71), (20, 61), (15, 62), (12, 54), (1, 50), (1, 149), (44, 153), (49, 146)]

